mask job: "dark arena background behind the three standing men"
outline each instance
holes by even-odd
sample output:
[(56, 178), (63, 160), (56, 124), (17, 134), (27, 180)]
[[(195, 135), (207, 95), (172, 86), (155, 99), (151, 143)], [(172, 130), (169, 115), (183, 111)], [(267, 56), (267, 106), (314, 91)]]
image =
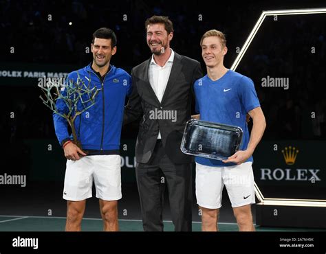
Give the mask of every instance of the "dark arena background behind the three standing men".
[[(90, 47), (93, 32), (110, 27), (118, 36), (118, 52), (111, 64), (130, 73), (132, 67), (151, 56), (144, 21), (159, 14), (169, 16), (174, 23), (171, 47), (202, 62), (206, 73), (199, 41), (207, 30), (226, 34), (228, 54), (224, 64), (230, 68), (237, 47), (242, 47), (263, 10), (322, 7), (326, 7), (325, 1), (0, 1), (0, 69), (30, 67), (70, 72), (84, 67), (92, 60), (85, 48)], [(278, 16), (277, 21), (273, 18), (265, 19), (237, 68), (254, 81), (268, 124), (254, 157), (255, 178), (265, 197), (325, 199), (326, 14)], [(14, 54), (10, 47), (14, 47)], [(314, 54), (312, 47), (316, 49)], [(290, 89), (262, 87), (261, 78), (267, 76), (289, 78)], [(26, 197), (39, 196), (39, 189), (50, 193), (52, 187), (58, 189), (53, 199), (60, 200), (65, 159), (54, 134), (52, 113), (39, 100), (37, 80), (10, 82), (0, 77), (0, 88), (0, 172), (26, 174), (28, 187), (36, 189), (0, 185), (8, 202), (5, 204), (14, 206), (15, 198), (23, 193), (28, 193)], [(10, 117), (12, 112), (14, 118)], [(122, 155), (129, 156), (131, 164), (137, 126), (129, 124), (122, 130), (122, 144), (128, 143), (128, 151), (122, 151)], [(300, 150), (298, 159), (294, 165), (285, 165), (281, 150), (294, 145)], [(298, 177), (300, 168), (318, 169), (321, 180), (316, 185), (283, 178), (263, 181), (261, 168), (290, 169), (290, 178)], [(137, 194), (132, 167), (122, 168), (122, 181), (126, 194)], [(46, 204), (47, 196), (43, 198)], [(1, 207), (0, 213), (12, 213), (8, 206)], [(28, 207), (26, 204), (21, 209), (37, 210)]]

